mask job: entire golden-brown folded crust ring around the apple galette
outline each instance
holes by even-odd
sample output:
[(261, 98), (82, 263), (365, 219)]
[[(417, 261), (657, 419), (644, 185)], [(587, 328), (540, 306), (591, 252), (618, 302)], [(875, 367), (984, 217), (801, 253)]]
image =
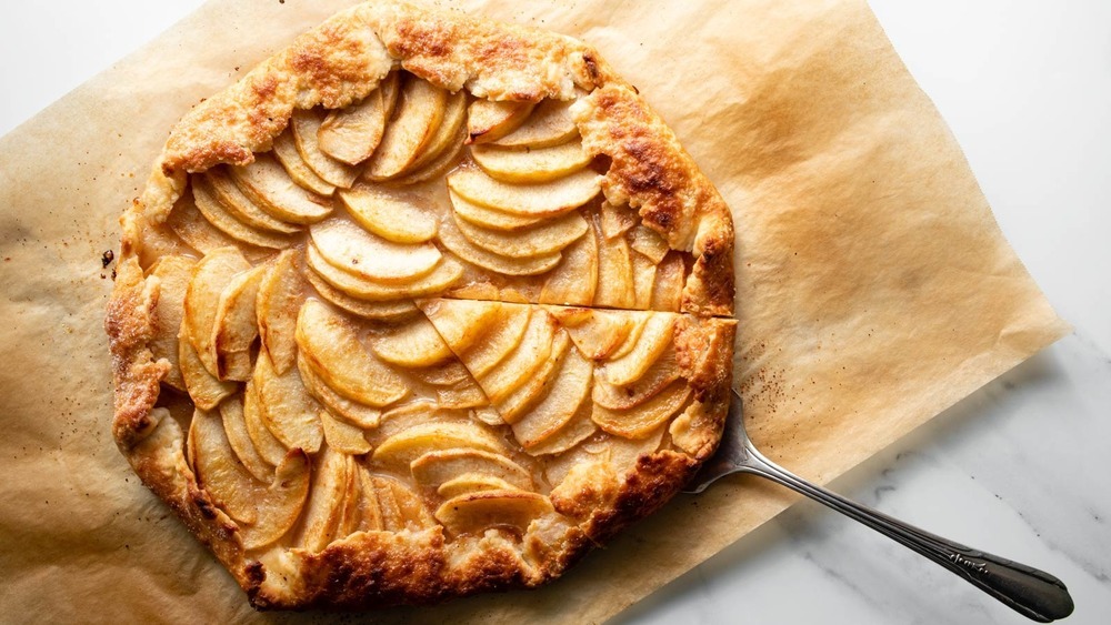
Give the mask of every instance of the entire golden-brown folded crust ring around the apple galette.
[[(675, 351), (695, 401), (670, 437), (681, 451), (641, 455), (629, 468), (585, 467), (552, 492), (554, 512), (523, 537), (488, 531), (446, 540), (441, 527), (359, 532), (320, 553), (244, 554), (239, 528), (201, 488), (186, 462), (181, 425), (156, 409), (169, 371), (148, 346), (158, 281), (144, 279), (144, 232), (166, 220), (188, 172), (246, 164), (269, 150), (294, 109), (344, 107), (403, 67), (452, 91), (494, 100), (570, 99), (583, 144), (613, 167), (610, 201), (639, 208), (645, 224), (694, 253), (683, 310), (732, 310), (732, 225), (720, 196), (673, 133), (590, 47), (537, 29), (498, 24), (393, 2), (341, 12), (297, 39), (244, 79), (190, 111), (174, 128), (140, 202), (122, 218), (119, 275), (109, 303), (116, 382), (116, 440), (134, 471), (231, 571), (258, 608), (364, 607), (438, 602), (530, 587), (559, 576), (594, 545), (667, 502), (712, 452), (731, 383), (733, 324), (682, 317)], [(685, 453), (683, 453), (685, 452)]]

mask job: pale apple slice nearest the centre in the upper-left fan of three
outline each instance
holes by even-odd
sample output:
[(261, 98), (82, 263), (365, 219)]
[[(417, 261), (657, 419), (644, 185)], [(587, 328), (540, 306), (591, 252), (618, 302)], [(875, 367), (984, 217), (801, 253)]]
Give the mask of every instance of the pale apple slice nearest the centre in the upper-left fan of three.
[(228, 171), (248, 198), (277, 219), (313, 223), (332, 213), (330, 198), (298, 185), (270, 154), (256, 154), (253, 163)]

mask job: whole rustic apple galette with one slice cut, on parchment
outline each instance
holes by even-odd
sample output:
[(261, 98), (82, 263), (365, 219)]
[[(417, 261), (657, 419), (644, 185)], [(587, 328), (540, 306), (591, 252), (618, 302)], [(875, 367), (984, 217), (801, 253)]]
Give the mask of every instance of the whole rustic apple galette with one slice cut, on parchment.
[(729, 212), (575, 40), (354, 7), (121, 222), (116, 440), (259, 608), (541, 584), (720, 437)]

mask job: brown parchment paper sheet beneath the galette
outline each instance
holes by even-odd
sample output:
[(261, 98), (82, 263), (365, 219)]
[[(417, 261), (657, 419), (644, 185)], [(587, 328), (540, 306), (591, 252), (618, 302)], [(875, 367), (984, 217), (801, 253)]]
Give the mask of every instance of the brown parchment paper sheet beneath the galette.
[[(328, 618), (253, 613), (116, 451), (101, 254), (171, 124), (347, 4), (212, 1), (0, 140), (0, 618)], [(462, 7), (595, 44), (722, 191), (737, 383), (798, 473), (837, 476), (1068, 331), (862, 1)], [(379, 616), (603, 621), (791, 501), (727, 482), (549, 587)]]

